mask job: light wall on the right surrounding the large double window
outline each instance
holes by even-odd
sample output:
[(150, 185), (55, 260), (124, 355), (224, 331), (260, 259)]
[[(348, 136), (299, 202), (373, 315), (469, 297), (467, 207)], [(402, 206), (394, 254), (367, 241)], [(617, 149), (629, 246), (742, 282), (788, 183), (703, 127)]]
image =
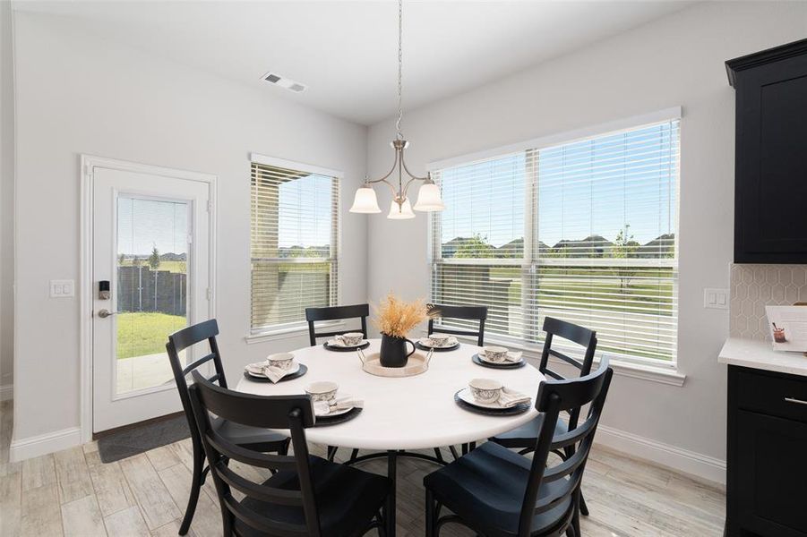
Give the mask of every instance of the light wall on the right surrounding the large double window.
[[(732, 260), (734, 90), (724, 62), (805, 36), (805, 3), (700, 4), (404, 115), (409, 167), (422, 172), (442, 158), (683, 107), (678, 356), (686, 383), (615, 377), (604, 419), (613, 429), (599, 437), (713, 480), (725, 459), (717, 352), (728, 311), (704, 310), (702, 295), (703, 287), (728, 287)], [(393, 136), (391, 120), (371, 128), (372, 176), (390, 165)], [(389, 202), (383, 192), (382, 208)], [(370, 300), (391, 289), (425, 296), (426, 218), (370, 218)]]

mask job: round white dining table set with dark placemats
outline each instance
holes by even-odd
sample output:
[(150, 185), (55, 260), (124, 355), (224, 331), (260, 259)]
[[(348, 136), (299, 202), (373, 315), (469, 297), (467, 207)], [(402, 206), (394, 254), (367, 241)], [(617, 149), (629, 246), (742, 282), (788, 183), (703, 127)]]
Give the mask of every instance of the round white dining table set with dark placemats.
[[(365, 356), (377, 353), (380, 346), (380, 339), (371, 339)], [(476, 345), (462, 343), (456, 350), (432, 354), (428, 370), (419, 375), (391, 378), (365, 372), (356, 352), (310, 346), (293, 351), (295, 359), (308, 367), (302, 377), (276, 384), (242, 377), (236, 390), (279, 396), (305, 393), (305, 387), (317, 380), (338, 383), (339, 396), (364, 401), (362, 412), (349, 422), (306, 429), (306, 439), (326, 446), (385, 451), (388, 473), (394, 480), (400, 450), (467, 444), (511, 430), (537, 416), (535, 396), (544, 375), (529, 363), (518, 369), (482, 367), (471, 361), (480, 350)], [(533, 403), (527, 412), (517, 415), (468, 412), (457, 405), (454, 394), (468, 386), (469, 380), (478, 378), (499, 380), (505, 387), (533, 397)], [(391, 528), (394, 527), (393, 519)]]

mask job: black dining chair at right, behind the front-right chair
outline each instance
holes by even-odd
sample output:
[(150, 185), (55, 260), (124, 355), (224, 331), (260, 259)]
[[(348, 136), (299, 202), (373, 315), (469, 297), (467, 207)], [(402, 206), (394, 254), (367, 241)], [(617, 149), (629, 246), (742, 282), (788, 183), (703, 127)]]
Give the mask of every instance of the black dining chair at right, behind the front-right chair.
[[(538, 371), (551, 379), (564, 380), (562, 374), (550, 369), (549, 357), (555, 358), (565, 362), (575, 369), (579, 370), (579, 377), (585, 377), (591, 371), (591, 364), (594, 362), (594, 353), (597, 350), (597, 332), (579, 325), (567, 322), (565, 320), (554, 319), (553, 317), (546, 317), (544, 319), (544, 332), (546, 334), (544, 339), (544, 350), (541, 352), (541, 362), (538, 364)], [(567, 341), (583, 347), (583, 360), (579, 361), (571, 358), (566, 354), (561, 353), (557, 349), (552, 348), (553, 343), (556, 343), (554, 338), (560, 337)], [(568, 422), (559, 419), (555, 424), (555, 434), (562, 435), (567, 430), (574, 429), (579, 420), (580, 408), (571, 408), (569, 412)], [(519, 454), (524, 455), (536, 446), (536, 439), (538, 433), (543, 429), (545, 416), (540, 414), (534, 420), (531, 420), (520, 427), (513, 430), (508, 430), (502, 434), (496, 435), (490, 440), (502, 445), (503, 447), (510, 447), (512, 449), (519, 449)], [(574, 454), (573, 447), (565, 447), (558, 455), (562, 458), (568, 458)], [(585, 499), (580, 497), (580, 512), (588, 516), (588, 507), (586, 506)]]

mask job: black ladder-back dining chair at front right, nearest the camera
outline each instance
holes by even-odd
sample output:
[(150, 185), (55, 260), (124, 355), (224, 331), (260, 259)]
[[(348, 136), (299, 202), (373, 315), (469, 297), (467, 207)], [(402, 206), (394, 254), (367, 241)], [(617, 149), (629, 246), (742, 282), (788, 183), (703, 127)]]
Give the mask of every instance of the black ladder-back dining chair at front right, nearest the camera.
[[(532, 460), (494, 442), (425, 476), (426, 536), (443, 524), (463, 524), (489, 537), (581, 537), (579, 490), (588, 453), (605, 405), (613, 371), (604, 362), (579, 379), (541, 383), (536, 409), (544, 416)], [(588, 417), (562, 435), (555, 426), (562, 411), (590, 403)], [(574, 455), (552, 465), (549, 454), (575, 446)], [(452, 515), (440, 516), (441, 509)]]

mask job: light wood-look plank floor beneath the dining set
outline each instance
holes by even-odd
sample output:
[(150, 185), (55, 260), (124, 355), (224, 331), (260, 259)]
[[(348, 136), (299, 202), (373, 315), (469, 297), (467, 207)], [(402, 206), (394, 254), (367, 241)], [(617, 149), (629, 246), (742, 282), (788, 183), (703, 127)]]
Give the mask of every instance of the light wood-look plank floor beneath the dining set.
[[(12, 403), (6, 401), (0, 404), (3, 537), (176, 535), (191, 482), (189, 439), (108, 465), (100, 462), (95, 443), (12, 464), (8, 462), (11, 430)], [(386, 463), (372, 461), (362, 467), (384, 473)], [(254, 480), (262, 478), (257, 469), (249, 470)], [(422, 461), (399, 462), (401, 537), (424, 534), (422, 480), (433, 470), (434, 465)], [(210, 480), (205, 489), (190, 534), (220, 536), (219, 505)], [(583, 490), (591, 511), (582, 520), (587, 537), (706, 537), (723, 532), (720, 490), (602, 448), (589, 458)], [(448, 524), (441, 534), (473, 533)]]

